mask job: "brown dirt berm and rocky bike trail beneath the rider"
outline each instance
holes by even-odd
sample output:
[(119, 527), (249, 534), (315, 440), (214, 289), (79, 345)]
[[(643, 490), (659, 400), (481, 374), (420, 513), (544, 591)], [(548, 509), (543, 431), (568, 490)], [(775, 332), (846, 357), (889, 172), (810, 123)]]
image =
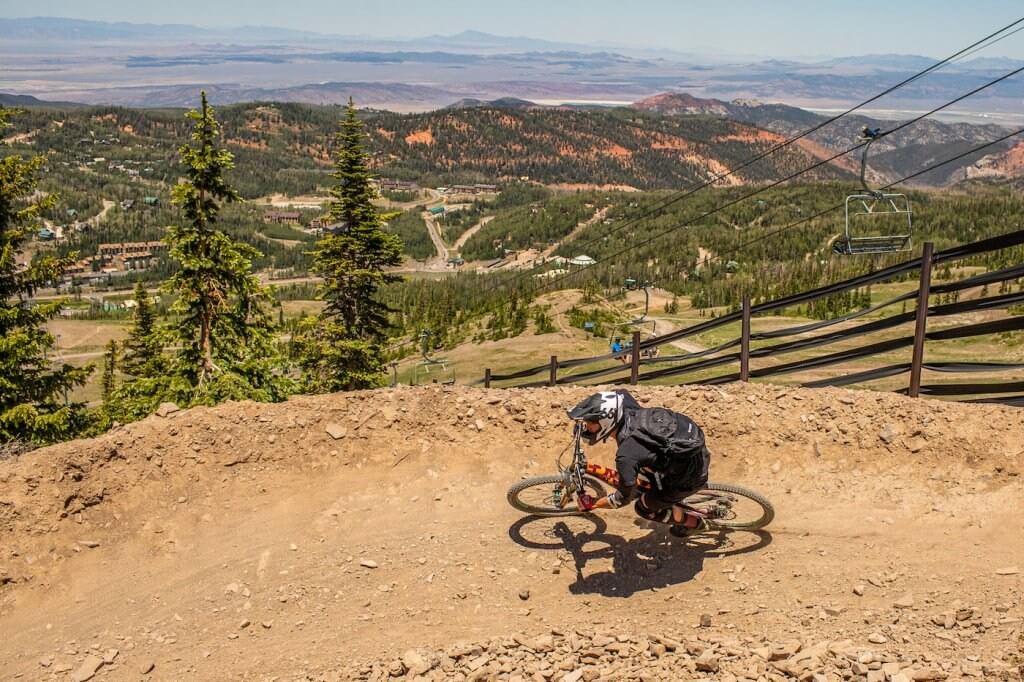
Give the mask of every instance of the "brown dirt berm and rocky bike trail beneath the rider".
[(0, 678), (1021, 679), (1024, 411), (638, 388), (775, 503), (679, 540), (506, 503), (587, 392), (164, 411), (2, 461)]

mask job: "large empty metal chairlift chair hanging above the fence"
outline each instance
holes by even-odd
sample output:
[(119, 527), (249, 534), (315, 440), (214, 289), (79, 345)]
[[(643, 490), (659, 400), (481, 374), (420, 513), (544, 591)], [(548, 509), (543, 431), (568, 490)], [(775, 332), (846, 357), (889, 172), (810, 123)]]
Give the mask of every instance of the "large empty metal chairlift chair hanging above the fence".
[[(864, 190), (846, 198), (845, 230), (833, 242), (833, 251), (840, 255), (896, 253), (912, 248), (910, 200), (906, 195), (867, 186), (867, 153), (874, 140), (884, 135), (879, 128), (865, 127), (861, 132), (860, 139), (867, 140), (860, 156), (860, 184)], [(893, 224), (897, 228), (891, 231), (889, 225)], [(881, 228), (865, 231), (866, 225), (881, 225)]]

